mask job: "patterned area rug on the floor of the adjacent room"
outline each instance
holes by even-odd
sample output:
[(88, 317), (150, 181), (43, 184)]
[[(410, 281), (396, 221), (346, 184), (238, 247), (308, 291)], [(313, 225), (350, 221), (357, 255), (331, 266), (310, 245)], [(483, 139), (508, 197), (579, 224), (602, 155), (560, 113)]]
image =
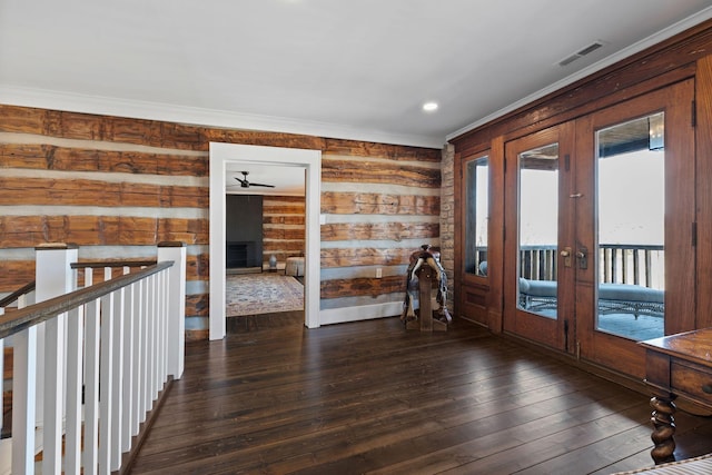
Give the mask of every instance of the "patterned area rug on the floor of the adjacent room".
[(227, 276), (226, 316), (304, 309), (304, 286), (291, 276), (264, 273)]

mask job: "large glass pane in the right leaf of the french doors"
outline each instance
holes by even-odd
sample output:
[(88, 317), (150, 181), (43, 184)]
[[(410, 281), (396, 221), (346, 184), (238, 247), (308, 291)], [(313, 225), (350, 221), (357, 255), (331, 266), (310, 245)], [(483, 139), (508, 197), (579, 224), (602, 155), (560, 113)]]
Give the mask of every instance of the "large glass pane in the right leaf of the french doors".
[(664, 335), (664, 113), (596, 133), (596, 329)]

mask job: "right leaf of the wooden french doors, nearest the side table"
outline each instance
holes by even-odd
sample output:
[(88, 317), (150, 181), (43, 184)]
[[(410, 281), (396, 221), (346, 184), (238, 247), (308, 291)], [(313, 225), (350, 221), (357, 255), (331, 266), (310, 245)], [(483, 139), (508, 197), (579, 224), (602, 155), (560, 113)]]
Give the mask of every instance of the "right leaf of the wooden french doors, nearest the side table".
[(637, 342), (694, 327), (693, 98), (685, 81), (576, 121), (576, 350), (635, 377)]

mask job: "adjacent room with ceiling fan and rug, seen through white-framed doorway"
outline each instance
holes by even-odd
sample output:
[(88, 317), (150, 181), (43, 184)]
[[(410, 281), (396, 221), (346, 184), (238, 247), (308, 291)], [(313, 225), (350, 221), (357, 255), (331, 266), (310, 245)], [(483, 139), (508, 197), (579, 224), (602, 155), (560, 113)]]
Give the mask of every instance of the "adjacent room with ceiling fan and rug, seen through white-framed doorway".
[(228, 331), (304, 325), (305, 178), (299, 169), (231, 164), (226, 174)]

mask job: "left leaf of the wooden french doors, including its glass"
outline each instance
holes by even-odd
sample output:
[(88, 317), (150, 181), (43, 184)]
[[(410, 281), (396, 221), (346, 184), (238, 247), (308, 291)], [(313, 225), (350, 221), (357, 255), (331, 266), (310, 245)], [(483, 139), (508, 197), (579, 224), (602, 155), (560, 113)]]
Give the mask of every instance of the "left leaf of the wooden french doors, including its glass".
[[(560, 265), (567, 239), (565, 194), (570, 188), (571, 125), (554, 127), (505, 148), (504, 329), (566, 349), (572, 275)], [(565, 256), (564, 256), (565, 257)], [(570, 261), (570, 257), (566, 258)]]

